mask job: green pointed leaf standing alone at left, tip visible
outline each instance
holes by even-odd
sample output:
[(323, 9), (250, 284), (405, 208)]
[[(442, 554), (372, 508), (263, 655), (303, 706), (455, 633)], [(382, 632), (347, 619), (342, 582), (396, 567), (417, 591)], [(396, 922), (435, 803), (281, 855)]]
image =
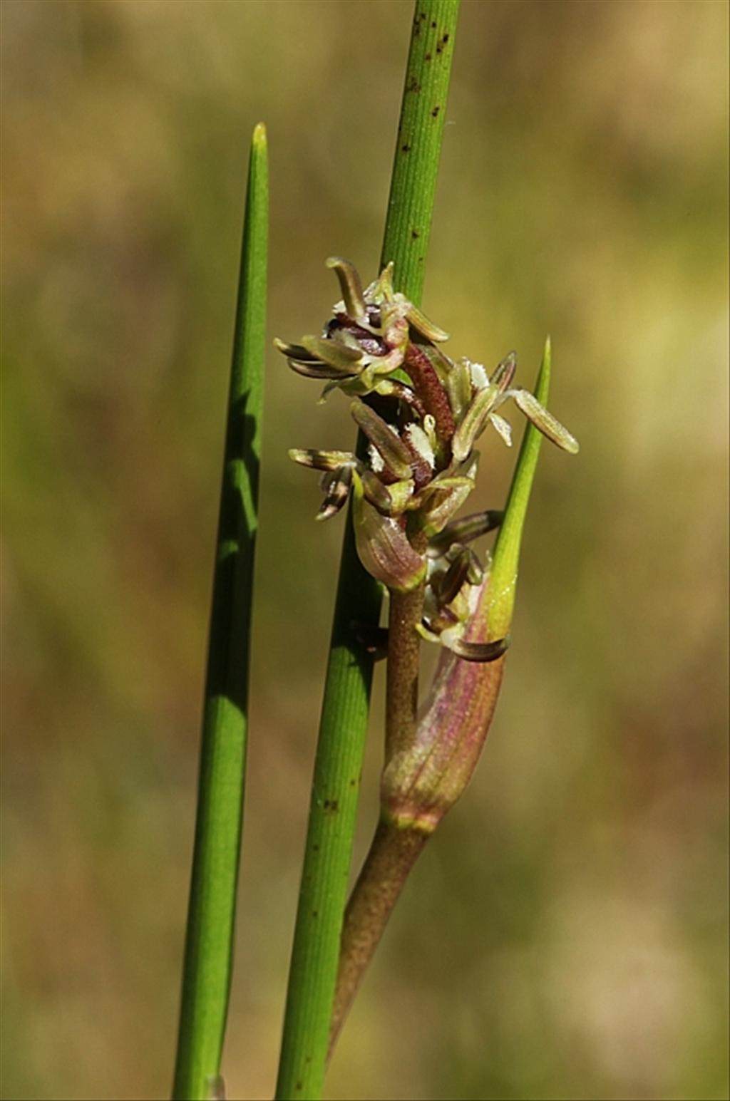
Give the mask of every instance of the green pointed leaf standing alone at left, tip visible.
[(265, 345), (266, 133), (253, 131), (213, 584), (175, 1099), (220, 1090), (248, 733), (249, 641)]

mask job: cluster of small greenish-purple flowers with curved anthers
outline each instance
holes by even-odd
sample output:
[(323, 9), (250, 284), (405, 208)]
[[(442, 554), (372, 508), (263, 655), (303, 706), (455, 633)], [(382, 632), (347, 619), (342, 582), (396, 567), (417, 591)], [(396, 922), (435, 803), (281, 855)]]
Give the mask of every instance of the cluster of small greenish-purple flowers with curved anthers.
[[(322, 334), (274, 342), (294, 371), (327, 383), (325, 394), (341, 390), (355, 399), (350, 414), (367, 438), (367, 455), (290, 455), (323, 471), (318, 520), (336, 515), (352, 494), (358, 554), (373, 577), (395, 592), (425, 580), (423, 637), (468, 661), (493, 661), (504, 640), (467, 637), (484, 575), (467, 544), (491, 531), (497, 514), (454, 520), (476, 483), (475, 445), (489, 424), (511, 444), (510, 425), (498, 413), (510, 400), (558, 447), (575, 454), (577, 440), (530, 391), (512, 386), (515, 352), (491, 378), (480, 363), (449, 359), (437, 347), (448, 334), (393, 290), (392, 264), (364, 291), (346, 260), (331, 258), (327, 266), (342, 297)], [(416, 534), (420, 547), (424, 535), (429, 539), (426, 553), (414, 547)]]

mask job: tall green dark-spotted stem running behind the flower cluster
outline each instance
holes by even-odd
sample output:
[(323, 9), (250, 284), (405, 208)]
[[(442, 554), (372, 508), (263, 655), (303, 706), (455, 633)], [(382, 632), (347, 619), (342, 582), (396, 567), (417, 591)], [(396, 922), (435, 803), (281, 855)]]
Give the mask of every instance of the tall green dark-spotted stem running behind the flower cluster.
[[(457, 15), (458, 0), (417, 0), (415, 4), (381, 268), (394, 261), (395, 285), (416, 305), (431, 236)], [(348, 517), (292, 949), (277, 1101), (322, 1095), (372, 679), (372, 659), (358, 643), (353, 624), (375, 625), (380, 606), (380, 590), (359, 563)]]

